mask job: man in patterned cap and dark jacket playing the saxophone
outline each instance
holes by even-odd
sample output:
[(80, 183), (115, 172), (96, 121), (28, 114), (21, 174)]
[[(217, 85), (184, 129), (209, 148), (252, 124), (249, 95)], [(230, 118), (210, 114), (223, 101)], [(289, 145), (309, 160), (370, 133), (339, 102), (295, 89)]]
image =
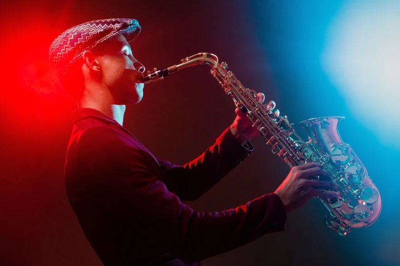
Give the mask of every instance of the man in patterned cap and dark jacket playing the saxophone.
[[(195, 212), (195, 200), (252, 151), (260, 135), (238, 109), (216, 143), (177, 166), (144, 147), (123, 124), (125, 105), (143, 97), (145, 67), (129, 42), (134, 19), (87, 22), (62, 33), (50, 47), (61, 84), (78, 102), (65, 163), (69, 202), (105, 265), (200, 265), (269, 233), (284, 230), (286, 214), (332, 182), (319, 164), (292, 168), (279, 188), (235, 209)], [(260, 100), (264, 95), (258, 95)], [(271, 107), (272, 108), (272, 107)]]

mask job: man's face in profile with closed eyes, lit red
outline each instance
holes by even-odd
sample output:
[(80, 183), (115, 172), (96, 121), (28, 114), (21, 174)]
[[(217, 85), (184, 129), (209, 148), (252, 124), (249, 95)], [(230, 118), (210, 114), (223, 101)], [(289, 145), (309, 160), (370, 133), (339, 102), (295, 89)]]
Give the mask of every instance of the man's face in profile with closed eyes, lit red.
[(131, 47), (122, 34), (104, 43), (102, 53), (96, 60), (115, 104), (133, 104), (142, 100), (142, 73), (145, 67), (133, 57)]

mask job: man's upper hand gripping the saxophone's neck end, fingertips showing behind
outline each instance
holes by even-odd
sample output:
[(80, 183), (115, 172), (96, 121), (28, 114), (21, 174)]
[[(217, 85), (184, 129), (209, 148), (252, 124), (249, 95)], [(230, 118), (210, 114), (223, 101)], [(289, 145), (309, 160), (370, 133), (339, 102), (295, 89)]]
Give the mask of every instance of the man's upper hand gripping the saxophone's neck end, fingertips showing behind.
[[(263, 103), (265, 98), (264, 93), (259, 92), (257, 96), (258, 96), (258, 101), (260, 103)], [(270, 101), (264, 105), (267, 105), (267, 108), (269, 110), (275, 108), (274, 101)], [(253, 124), (250, 122), (250, 120), (247, 119), (245, 113), (243, 113), (239, 108), (235, 110), (235, 113), (237, 114), (237, 116), (230, 126), (230, 131), (241, 144), (245, 143), (247, 140), (250, 140), (251, 138), (260, 136), (260, 131), (256, 127), (252, 126)]]

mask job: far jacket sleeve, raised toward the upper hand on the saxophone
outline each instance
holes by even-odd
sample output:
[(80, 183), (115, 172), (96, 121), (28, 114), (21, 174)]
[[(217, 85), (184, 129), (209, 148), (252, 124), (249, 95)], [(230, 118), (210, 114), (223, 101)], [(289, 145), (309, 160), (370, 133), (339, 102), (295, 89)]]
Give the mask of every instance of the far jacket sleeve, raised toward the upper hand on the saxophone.
[(193, 161), (180, 166), (157, 158), (168, 184), (181, 200), (196, 200), (242, 163), (254, 150), (249, 141), (241, 145), (229, 127), (215, 144)]

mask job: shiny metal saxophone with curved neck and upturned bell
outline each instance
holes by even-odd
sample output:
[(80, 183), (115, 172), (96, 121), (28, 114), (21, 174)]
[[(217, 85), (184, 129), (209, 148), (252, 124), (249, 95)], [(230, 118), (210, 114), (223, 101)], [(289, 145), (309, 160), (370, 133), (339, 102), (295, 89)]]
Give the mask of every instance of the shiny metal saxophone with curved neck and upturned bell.
[(144, 83), (160, 81), (170, 73), (200, 64), (211, 67), (211, 75), (260, 130), (267, 144), (272, 145), (272, 153), (281, 157), (290, 168), (318, 162), (338, 185), (340, 197), (317, 197), (328, 210), (325, 223), (329, 228), (344, 236), (350, 228), (367, 227), (378, 219), (382, 209), (381, 195), (357, 154), (342, 141), (337, 130), (338, 122), (344, 117), (319, 117), (300, 122), (299, 126), (306, 128), (309, 135), (309, 140), (303, 141), (287, 116), (279, 116), (276, 110), (272, 112), (258, 102), (255, 91), (245, 88), (227, 70), (225, 62), (218, 63), (218, 57), (207, 52), (186, 57), (180, 64), (168, 68), (154, 68), (147, 72)]

